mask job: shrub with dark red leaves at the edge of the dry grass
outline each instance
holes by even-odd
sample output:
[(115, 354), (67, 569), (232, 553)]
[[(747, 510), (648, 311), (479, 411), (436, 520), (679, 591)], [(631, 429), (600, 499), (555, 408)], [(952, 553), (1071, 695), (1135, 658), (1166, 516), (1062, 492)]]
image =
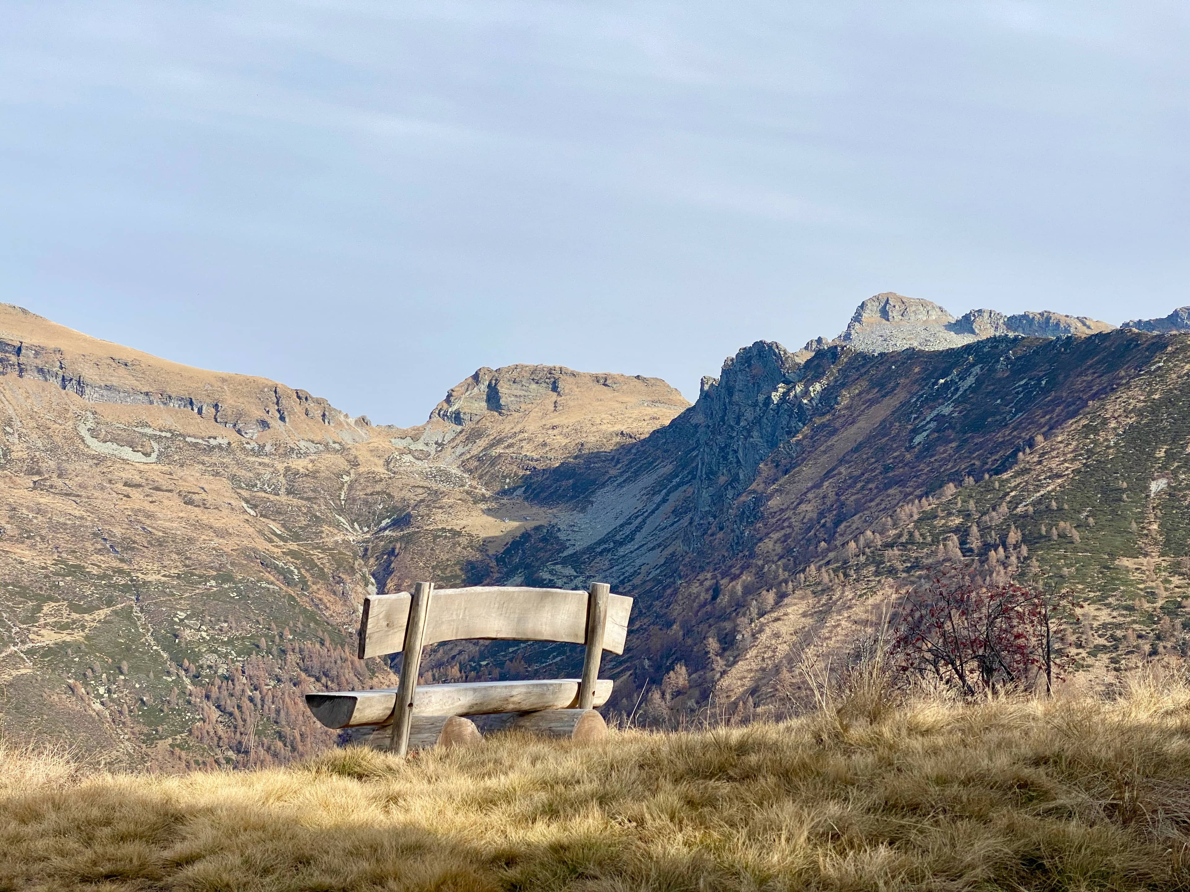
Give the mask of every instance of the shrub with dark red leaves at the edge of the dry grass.
[(967, 697), (1009, 687), (1050, 692), (1069, 664), (1060, 642), (1070, 609), (1065, 593), (942, 572), (906, 596), (889, 653), (906, 674)]

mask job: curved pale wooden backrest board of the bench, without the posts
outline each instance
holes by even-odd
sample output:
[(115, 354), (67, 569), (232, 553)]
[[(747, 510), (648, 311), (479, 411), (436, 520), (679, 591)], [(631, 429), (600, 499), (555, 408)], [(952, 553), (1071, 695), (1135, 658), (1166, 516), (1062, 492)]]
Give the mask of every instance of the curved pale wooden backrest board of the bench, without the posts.
[[(585, 591), (482, 585), (436, 589), (422, 643), (458, 639), (587, 642)], [(359, 657), (400, 653), (412, 596), (369, 595), (359, 624)], [(608, 596), (603, 649), (624, 653), (632, 598)]]

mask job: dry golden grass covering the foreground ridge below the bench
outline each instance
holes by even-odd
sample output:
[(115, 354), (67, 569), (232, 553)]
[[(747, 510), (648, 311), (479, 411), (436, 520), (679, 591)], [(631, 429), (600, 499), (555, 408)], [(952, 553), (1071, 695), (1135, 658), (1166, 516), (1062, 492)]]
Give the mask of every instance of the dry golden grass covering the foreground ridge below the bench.
[(0, 752), (5, 890), (1190, 886), (1190, 690), (111, 774)]

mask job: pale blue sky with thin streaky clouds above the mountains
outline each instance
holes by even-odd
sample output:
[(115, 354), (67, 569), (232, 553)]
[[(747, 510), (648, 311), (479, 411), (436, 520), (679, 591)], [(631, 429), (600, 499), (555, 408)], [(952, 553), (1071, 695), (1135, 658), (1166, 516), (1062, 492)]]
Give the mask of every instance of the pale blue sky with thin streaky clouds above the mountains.
[(1190, 303), (1190, 5), (0, 2), (0, 300), (418, 423), (896, 290)]

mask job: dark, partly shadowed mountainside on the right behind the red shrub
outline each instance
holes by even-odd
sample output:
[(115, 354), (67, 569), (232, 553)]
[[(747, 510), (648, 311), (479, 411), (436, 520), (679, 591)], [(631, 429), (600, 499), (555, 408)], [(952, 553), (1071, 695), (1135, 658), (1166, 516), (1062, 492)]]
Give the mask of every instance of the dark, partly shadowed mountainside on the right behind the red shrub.
[(665, 709), (763, 706), (939, 563), (1072, 589), (1083, 668), (1185, 649), (1188, 372), (1190, 339), (1126, 331), (804, 363), (760, 341), (666, 428), (532, 475), (557, 514), (522, 551), (644, 596), (621, 708), (678, 664)]

